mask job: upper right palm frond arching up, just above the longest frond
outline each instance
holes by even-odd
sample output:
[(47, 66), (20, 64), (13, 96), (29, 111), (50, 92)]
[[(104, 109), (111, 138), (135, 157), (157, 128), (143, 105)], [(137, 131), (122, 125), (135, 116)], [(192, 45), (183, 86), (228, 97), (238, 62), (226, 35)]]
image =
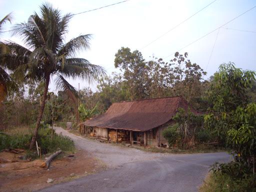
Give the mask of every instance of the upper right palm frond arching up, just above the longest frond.
[(91, 38), (90, 34), (84, 34), (72, 38), (67, 43), (63, 44), (58, 51), (58, 56), (65, 55), (67, 57), (74, 57), (77, 52), (81, 50), (89, 49), (89, 40)]

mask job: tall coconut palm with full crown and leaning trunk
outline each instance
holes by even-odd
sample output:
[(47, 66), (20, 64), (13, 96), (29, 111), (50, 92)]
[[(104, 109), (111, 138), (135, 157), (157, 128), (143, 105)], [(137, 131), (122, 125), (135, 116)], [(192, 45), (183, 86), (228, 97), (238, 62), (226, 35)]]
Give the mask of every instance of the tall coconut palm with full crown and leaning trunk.
[(40, 14), (34, 12), (27, 22), (14, 27), (14, 33), (23, 38), (25, 46), (8, 42), (10, 54), (7, 55), (7, 62), (17, 65), (14, 73), (24, 74), (26, 79), (34, 82), (44, 81), (30, 149), (35, 143), (50, 79), (55, 78), (56, 87), (64, 90), (75, 102), (77, 92), (65, 77), (81, 78), (91, 82), (105, 75), (105, 70), (101, 66), (75, 57), (77, 51), (89, 48), (90, 34), (79, 35), (64, 43), (64, 35), (67, 33), (67, 24), (71, 17), (72, 14), (61, 15), (51, 4), (44, 3), (40, 6)]

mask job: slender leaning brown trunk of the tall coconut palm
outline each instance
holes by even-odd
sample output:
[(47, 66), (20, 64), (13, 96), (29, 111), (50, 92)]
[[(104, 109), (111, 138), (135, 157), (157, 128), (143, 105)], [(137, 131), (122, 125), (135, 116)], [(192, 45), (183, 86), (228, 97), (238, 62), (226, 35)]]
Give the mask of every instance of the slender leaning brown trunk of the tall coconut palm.
[(49, 81), (50, 81), (50, 75), (46, 75), (46, 80), (45, 80), (43, 95), (42, 95), (42, 101), (41, 101), (39, 113), (38, 113), (38, 116), (37, 116), (36, 125), (35, 125), (35, 129), (34, 129), (34, 132), (33, 132), (32, 140), (31, 140), (31, 143), (30, 143), (30, 146), (29, 146), (30, 150), (32, 149), (32, 147), (35, 143), (35, 140), (36, 140), (36, 137), (37, 137), (37, 132), (38, 132), (39, 125), (40, 125), (40, 121), (42, 119), (42, 114), (43, 114), (44, 105), (45, 105), (47, 92), (48, 92)]

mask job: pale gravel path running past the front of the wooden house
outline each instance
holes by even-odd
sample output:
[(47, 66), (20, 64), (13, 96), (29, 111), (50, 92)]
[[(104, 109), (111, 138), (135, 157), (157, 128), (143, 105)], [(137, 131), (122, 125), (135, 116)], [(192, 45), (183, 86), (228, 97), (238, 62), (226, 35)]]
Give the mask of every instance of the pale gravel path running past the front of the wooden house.
[(61, 127), (54, 127), (56, 133), (69, 136), (75, 142), (78, 149), (89, 152), (94, 157), (103, 161), (108, 167), (116, 167), (128, 162), (152, 160), (169, 154), (151, 153), (135, 148), (115, 146), (110, 143), (101, 143), (98, 140), (74, 135)]

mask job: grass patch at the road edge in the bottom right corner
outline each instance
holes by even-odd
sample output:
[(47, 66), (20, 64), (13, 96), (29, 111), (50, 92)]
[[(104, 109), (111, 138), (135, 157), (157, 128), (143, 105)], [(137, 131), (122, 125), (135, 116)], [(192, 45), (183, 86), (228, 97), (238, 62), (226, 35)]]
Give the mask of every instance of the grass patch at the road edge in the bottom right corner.
[(246, 179), (234, 179), (220, 172), (209, 172), (199, 187), (199, 192), (255, 192), (255, 181), (255, 175), (248, 175)]

